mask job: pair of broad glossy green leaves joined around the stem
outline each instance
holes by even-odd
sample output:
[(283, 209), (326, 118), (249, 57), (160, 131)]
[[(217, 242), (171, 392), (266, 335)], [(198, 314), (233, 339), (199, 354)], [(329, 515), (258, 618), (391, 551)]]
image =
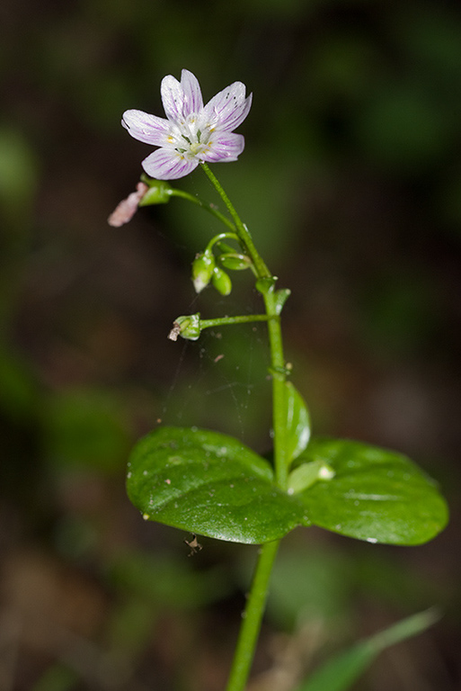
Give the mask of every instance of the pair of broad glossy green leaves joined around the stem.
[[(296, 454), (297, 430), (306, 426), (294, 391)], [(432, 480), (405, 456), (366, 444), (314, 439), (290, 481), (288, 492), (279, 489), (270, 463), (233, 437), (160, 427), (131, 454), (127, 489), (146, 519), (236, 543), (266, 543), (314, 524), (371, 543), (411, 545), (429, 541), (448, 520)]]

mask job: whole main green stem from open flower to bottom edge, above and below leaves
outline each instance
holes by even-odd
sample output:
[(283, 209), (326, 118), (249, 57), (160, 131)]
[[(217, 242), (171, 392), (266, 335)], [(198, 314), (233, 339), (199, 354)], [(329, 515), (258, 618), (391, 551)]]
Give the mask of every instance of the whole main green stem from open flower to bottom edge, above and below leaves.
[[(270, 345), (270, 371), (272, 374), (272, 426), (274, 441), (275, 480), (280, 489), (287, 488), (288, 462), (286, 459), (287, 440), (287, 411), (286, 397), (286, 365), (283, 356), (283, 344), (280, 328), (279, 310), (277, 309), (275, 277), (270, 274), (268, 267), (256, 249), (253, 238), (240, 216), (235, 211), (223, 187), (206, 163), (202, 163), (208, 179), (226, 204), (235, 224), (235, 233), (244, 248), (245, 254), (251, 257), (254, 273), (258, 279), (263, 279), (258, 285), (262, 292), (268, 321)], [(260, 287), (261, 286), (261, 287)], [(279, 540), (262, 545), (254, 572), (253, 584), (244, 611), (244, 621), (240, 629), (234, 662), (229, 676), (226, 691), (243, 691), (250, 674), (254, 651), (262, 624), (262, 615), (268, 596), (269, 580), (272, 566), (279, 548)]]

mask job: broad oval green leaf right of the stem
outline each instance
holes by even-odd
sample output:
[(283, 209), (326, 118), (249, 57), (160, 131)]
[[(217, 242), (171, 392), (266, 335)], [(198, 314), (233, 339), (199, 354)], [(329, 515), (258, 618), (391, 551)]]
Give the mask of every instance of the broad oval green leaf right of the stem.
[(297, 494), (311, 522), (369, 543), (421, 544), (448, 521), (448, 507), (408, 458), (358, 442), (314, 439), (298, 462), (323, 461), (335, 476)]

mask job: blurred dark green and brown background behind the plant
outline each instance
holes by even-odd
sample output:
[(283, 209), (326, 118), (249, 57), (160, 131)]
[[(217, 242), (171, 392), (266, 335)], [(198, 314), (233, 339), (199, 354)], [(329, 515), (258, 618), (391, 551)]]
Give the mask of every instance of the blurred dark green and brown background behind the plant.
[[(0, 687), (225, 685), (255, 548), (204, 539), (187, 559), (124, 473), (158, 420), (267, 450), (263, 328), (166, 339), (180, 314), (259, 298), (242, 274), (229, 298), (194, 296), (191, 260), (220, 229), (186, 202), (106, 222), (150, 150), (121, 113), (163, 115), (161, 79), (187, 67), (205, 100), (253, 91), (244, 154), (215, 172), (293, 291), (315, 432), (408, 453), (452, 510), (418, 548), (291, 534), (253, 691), (433, 605), (440, 623), (357, 688), (459, 688), (459, 3), (3, 0), (0, 31)], [(178, 186), (217, 201), (199, 171)]]

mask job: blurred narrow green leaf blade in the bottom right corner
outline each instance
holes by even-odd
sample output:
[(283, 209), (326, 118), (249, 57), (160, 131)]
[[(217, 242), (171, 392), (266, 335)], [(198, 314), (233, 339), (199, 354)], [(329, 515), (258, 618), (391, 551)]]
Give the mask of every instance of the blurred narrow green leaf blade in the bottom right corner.
[(395, 643), (422, 633), (438, 619), (437, 612), (431, 609), (403, 619), (385, 631), (357, 643), (350, 650), (341, 652), (332, 660), (328, 660), (297, 691), (347, 691), (374, 662), (380, 652)]

